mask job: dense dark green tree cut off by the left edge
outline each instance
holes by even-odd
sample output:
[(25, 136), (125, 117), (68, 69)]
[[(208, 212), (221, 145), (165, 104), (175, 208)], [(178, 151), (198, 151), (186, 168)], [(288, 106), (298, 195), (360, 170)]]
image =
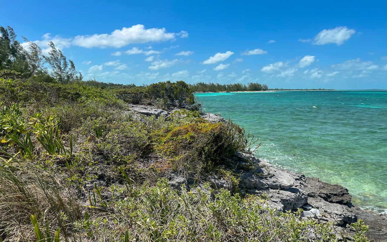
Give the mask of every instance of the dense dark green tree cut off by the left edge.
[(28, 72), (24, 49), (16, 40), (12, 27), (0, 26), (0, 70), (9, 69), (17, 72)]

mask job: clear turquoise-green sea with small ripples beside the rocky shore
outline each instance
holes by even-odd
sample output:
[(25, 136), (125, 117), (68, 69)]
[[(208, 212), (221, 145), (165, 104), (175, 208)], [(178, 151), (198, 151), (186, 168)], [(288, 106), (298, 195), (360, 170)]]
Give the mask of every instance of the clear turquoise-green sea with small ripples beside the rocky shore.
[(197, 93), (259, 137), (256, 156), (349, 189), (352, 202), (387, 213), (387, 91)]

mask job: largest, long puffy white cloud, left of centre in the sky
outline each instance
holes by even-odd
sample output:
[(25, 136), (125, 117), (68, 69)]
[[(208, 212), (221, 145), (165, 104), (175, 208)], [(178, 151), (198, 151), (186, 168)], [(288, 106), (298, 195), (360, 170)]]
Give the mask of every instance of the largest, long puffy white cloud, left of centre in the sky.
[[(165, 28), (146, 29), (144, 25), (137, 24), (132, 27), (116, 29), (110, 34), (78, 35), (75, 36), (73, 44), (86, 48), (120, 48), (129, 44), (172, 40), (175, 39), (175, 35), (182, 37), (182, 32), (178, 34), (167, 33)], [(188, 36), (188, 33), (186, 35)]]

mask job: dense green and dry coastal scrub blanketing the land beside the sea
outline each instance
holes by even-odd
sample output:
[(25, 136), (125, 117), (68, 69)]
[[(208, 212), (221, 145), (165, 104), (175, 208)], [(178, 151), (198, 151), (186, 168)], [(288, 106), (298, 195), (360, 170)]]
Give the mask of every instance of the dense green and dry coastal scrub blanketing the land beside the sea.
[[(217, 175), (237, 188), (229, 161), (249, 147), (238, 125), (200, 117), (185, 82), (80, 81), (54, 46), (56, 71), (23, 69), (13, 30), (10, 41), (1, 30), (0, 241), (337, 241), (332, 224), (267, 208), (265, 196), (168, 184)], [(143, 117), (128, 103), (184, 108)]]

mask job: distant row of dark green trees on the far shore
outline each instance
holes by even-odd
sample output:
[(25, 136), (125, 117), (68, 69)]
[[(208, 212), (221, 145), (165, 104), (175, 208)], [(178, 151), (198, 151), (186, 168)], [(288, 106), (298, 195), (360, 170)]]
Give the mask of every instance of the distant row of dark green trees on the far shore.
[(219, 84), (219, 83), (204, 83), (198, 82), (191, 84), (191, 88), (195, 92), (237, 92), (237, 91), (266, 91), (269, 87), (266, 84), (250, 82), (247, 84)]

